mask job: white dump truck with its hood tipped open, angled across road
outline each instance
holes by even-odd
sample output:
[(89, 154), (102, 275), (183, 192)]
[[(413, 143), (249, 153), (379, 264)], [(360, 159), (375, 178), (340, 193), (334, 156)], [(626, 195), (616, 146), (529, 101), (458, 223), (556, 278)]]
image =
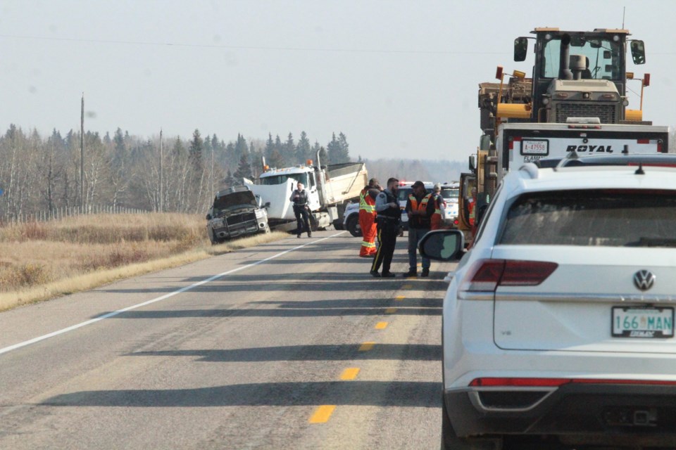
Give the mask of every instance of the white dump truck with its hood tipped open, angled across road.
[[(256, 183), (244, 179), (244, 184), (261, 198), (268, 207), (270, 228), (291, 231), (296, 228), (293, 204), (289, 200), (300, 181), (308, 191), (311, 210), (310, 223), (313, 230), (330, 225), (342, 227), (342, 214), (351, 201), (359, 200), (359, 193), (368, 184), (368, 172), (363, 162), (344, 162), (321, 166), (298, 165), (283, 169), (270, 169), (263, 165), (264, 172)], [(308, 160), (308, 163), (311, 161)]]

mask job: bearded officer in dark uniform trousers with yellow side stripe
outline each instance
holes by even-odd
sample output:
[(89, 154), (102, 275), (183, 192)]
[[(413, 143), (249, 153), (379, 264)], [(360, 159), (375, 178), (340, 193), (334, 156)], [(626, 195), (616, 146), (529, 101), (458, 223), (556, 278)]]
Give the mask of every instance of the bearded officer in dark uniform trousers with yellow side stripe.
[[(399, 191), (399, 180), (390, 178), (387, 180), (387, 189), (380, 192), (375, 198), (378, 251), (373, 259), (370, 274), (376, 278), (381, 276), (394, 278), (394, 274), (389, 271), (389, 266), (392, 264), (392, 255), (394, 255), (394, 245), (396, 244), (396, 235), (399, 233), (399, 220), (401, 219), (401, 209), (396, 198), (397, 191)], [(382, 275), (378, 273), (380, 264), (382, 264)]]

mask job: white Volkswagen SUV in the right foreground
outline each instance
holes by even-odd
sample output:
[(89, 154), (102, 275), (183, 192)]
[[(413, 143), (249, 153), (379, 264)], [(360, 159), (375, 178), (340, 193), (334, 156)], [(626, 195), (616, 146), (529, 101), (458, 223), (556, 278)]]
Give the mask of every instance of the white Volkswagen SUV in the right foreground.
[(660, 165), (505, 176), (444, 299), (442, 449), (676, 447), (676, 159)]

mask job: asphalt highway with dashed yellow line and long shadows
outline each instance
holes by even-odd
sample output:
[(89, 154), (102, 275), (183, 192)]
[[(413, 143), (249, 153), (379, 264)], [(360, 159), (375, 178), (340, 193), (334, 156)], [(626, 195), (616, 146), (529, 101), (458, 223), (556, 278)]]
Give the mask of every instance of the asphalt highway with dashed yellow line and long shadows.
[(439, 448), (453, 264), (377, 279), (360, 243), (290, 236), (0, 313), (0, 449)]

